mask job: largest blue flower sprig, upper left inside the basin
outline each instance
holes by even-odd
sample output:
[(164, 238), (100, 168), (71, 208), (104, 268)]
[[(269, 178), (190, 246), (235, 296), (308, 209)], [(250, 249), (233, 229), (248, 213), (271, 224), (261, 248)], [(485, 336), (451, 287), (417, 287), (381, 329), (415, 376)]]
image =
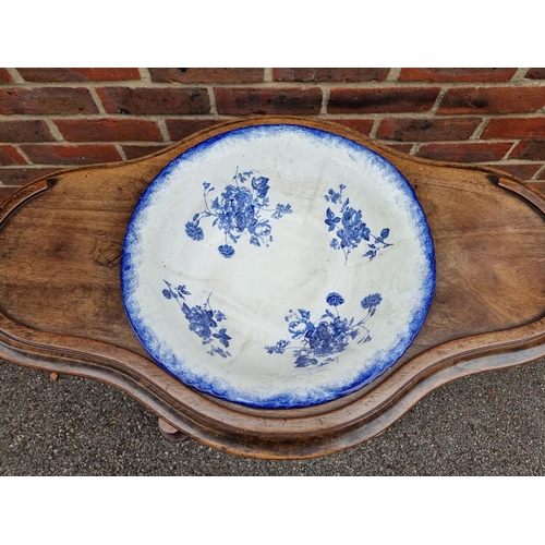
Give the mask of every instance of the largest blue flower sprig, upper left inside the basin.
[(263, 213), (269, 213), (272, 219), (280, 219), (284, 214), (292, 213), (289, 204), (277, 204), (275, 208), (268, 208), (269, 179), (257, 177), (255, 170), (239, 172), (237, 168), (233, 180), (234, 184), (228, 184), (211, 203), (208, 202), (208, 196), (216, 189), (210, 183), (203, 182), (205, 209), (185, 223), (185, 234), (199, 241), (204, 239), (201, 221), (214, 218), (213, 227), (223, 231), (226, 237), (226, 243), (218, 246), (218, 252), (226, 258), (234, 255), (231, 244), (237, 244), (245, 232), (250, 234), (250, 244), (255, 246), (268, 246), (272, 242), (272, 228), (269, 220), (263, 218)]

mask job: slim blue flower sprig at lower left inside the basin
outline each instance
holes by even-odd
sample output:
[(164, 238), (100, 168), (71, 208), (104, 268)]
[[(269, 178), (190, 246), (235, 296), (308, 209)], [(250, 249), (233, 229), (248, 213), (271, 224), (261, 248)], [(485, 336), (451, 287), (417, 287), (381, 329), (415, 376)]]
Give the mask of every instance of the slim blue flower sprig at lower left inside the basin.
[(208, 295), (204, 305), (189, 306), (185, 302), (185, 296), (191, 295), (185, 286), (178, 286), (173, 288), (170, 282), (164, 280), (167, 288), (162, 290), (162, 295), (166, 299), (173, 299), (179, 305), (185, 319), (190, 323), (190, 331), (198, 335), (203, 339), (203, 344), (208, 346), (210, 350), (208, 354), (219, 354), (221, 358), (228, 358), (231, 354), (223, 350), (215, 342), (221, 343), (225, 348), (229, 348), (231, 337), (227, 335), (227, 328), (219, 327), (218, 323), (223, 322), (226, 315), (220, 311), (214, 311), (210, 306), (210, 296)]

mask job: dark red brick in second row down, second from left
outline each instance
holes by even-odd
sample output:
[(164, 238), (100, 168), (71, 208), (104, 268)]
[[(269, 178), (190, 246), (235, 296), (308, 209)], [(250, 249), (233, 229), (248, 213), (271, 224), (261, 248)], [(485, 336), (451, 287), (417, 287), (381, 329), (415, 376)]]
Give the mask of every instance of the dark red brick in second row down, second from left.
[(108, 113), (154, 116), (164, 113), (208, 113), (210, 100), (204, 88), (105, 87), (97, 89)]

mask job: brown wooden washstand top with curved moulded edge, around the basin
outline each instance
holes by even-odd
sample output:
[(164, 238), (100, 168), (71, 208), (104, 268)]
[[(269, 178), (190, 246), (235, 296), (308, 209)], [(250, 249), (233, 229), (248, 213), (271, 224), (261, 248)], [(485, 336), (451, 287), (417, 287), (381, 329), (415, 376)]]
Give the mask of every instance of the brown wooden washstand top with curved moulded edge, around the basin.
[[(414, 189), (436, 252), (427, 319), (368, 387), (308, 409), (255, 410), (185, 387), (153, 363), (126, 319), (120, 258), (132, 210), (155, 175), (203, 140), (298, 123), (360, 142)], [(545, 354), (545, 201), (509, 174), (409, 157), (332, 123), (246, 118), (138, 160), (61, 171), (0, 204), (0, 355), (89, 376), (136, 397), (216, 448), (263, 458), (335, 452), (376, 435), (433, 388)]]

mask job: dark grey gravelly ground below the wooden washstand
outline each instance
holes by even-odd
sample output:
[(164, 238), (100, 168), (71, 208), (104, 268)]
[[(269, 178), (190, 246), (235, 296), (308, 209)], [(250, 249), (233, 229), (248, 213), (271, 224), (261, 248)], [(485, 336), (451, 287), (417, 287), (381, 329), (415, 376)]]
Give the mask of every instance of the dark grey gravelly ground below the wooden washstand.
[(0, 362), (1, 475), (545, 475), (545, 359), (456, 380), (380, 436), (313, 460), (171, 444), (95, 380)]

